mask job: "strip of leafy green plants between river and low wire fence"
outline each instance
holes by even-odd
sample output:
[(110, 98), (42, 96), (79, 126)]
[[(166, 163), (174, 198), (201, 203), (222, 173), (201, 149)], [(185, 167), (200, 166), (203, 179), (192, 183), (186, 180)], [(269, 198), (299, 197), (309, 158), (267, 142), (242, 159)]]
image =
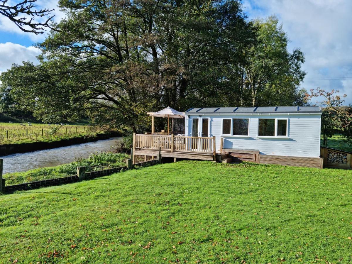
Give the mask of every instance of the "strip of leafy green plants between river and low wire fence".
[(85, 166), (86, 171), (102, 170), (126, 165), (130, 156), (122, 153), (102, 152), (79, 158), (75, 162), (54, 167), (38, 168), (29, 171), (7, 173), (3, 177), (6, 185), (60, 178), (77, 173), (77, 167)]

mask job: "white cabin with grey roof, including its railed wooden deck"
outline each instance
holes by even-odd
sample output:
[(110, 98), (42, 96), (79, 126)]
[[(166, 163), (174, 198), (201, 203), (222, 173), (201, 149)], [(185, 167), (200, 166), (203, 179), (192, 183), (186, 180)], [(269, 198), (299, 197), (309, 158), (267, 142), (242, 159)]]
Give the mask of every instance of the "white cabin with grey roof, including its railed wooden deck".
[(320, 106), (190, 108), (184, 135), (137, 134), (134, 155), (322, 168)]

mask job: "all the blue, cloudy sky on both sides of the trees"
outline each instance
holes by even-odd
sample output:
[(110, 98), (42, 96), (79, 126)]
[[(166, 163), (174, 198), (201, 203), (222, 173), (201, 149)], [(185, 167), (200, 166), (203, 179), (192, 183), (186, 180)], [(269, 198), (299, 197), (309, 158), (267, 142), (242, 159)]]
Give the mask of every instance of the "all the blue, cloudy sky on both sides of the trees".
[[(290, 39), (289, 51), (303, 51), (307, 75), (301, 87), (339, 90), (347, 94), (346, 103), (352, 103), (351, 0), (242, 0), (242, 4), (249, 20), (276, 15)], [(55, 8), (55, 21), (64, 17), (56, 0), (38, 0), (37, 5)], [(25, 33), (0, 16), (0, 73), (12, 63), (36, 63), (40, 50), (32, 45), (44, 39), (45, 35)]]

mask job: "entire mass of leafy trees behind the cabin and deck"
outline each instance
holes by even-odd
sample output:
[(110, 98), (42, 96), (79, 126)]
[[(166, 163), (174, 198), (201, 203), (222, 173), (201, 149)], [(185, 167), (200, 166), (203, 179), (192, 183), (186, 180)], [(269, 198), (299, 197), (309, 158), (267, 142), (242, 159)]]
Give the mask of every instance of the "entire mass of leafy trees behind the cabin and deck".
[[(166, 106), (302, 103), (303, 54), (275, 17), (246, 21), (236, 0), (61, 0), (67, 17), (38, 44), (39, 64), (1, 74), (2, 90), (45, 122), (88, 116), (150, 129)], [(304, 103), (304, 102), (303, 102)]]

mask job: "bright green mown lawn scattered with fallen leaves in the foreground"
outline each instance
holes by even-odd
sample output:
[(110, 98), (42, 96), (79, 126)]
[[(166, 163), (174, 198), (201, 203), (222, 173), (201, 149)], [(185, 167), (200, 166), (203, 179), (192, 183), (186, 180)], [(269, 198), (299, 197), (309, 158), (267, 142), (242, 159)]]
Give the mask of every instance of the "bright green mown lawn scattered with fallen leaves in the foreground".
[(182, 161), (0, 196), (0, 263), (347, 263), (352, 172)]

